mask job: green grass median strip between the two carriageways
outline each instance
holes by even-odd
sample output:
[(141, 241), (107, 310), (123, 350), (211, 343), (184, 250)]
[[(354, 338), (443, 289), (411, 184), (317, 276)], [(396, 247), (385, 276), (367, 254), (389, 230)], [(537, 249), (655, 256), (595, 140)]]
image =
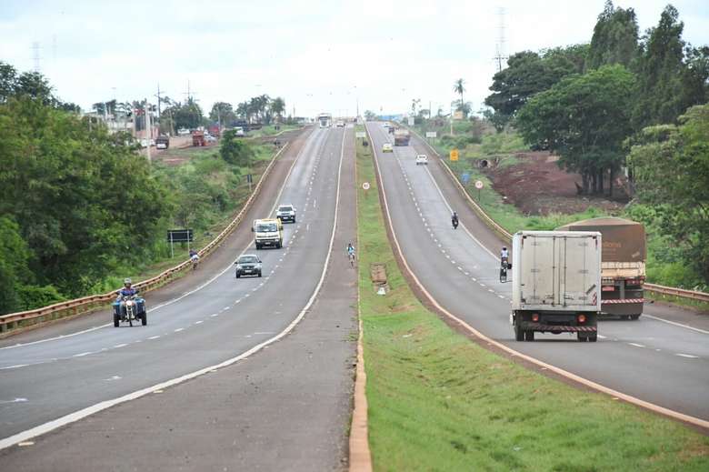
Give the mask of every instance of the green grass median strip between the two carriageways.
[[(708, 437), (494, 355), (422, 306), (387, 240), (372, 152), (357, 140), (359, 310), (374, 470), (709, 469)], [(384, 296), (376, 293), (373, 264), (385, 267)]]

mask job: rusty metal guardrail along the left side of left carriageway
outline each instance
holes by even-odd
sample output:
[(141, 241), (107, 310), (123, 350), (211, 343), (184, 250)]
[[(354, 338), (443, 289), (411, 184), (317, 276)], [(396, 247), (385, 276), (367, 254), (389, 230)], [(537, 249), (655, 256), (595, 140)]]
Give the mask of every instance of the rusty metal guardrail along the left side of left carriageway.
[[(219, 233), (219, 235), (215, 236), (215, 238), (208, 245), (206, 245), (199, 251), (200, 257), (209, 255), (217, 247), (221, 246), (226, 236), (229, 236), (231, 233), (233, 233), (236, 229), (236, 226), (239, 226), (239, 224), (244, 219), (246, 212), (248, 212), (251, 206), (253, 205), (256, 196), (258, 196), (261, 192), (261, 188), (265, 182), (265, 178), (271, 173), (271, 169), (275, 166), (276, 159), (278, 158), (278, 156), (281, 155), (281, 153), (283, 153), (287, 146), (288, 143), (285, 143), (285, 146), (281, 147), (281, 149), (279, 149), (278, 152), (275, 153), (275, 155), (271, 158), (271, 162), (268, 164), (268, 166), (266, 166), (264, 173), (261, 175), (261, 178), (258, 180), (258, 183), (254, 188), (254, 192), (252, 192), (251, 196), (248, 197), (245, 205), (242, 207), (239, 213), (236, 214), (235, 218), (229, 223), (229, 225), (227, 225), (225, 229), (221, 233)], [(140, 289), (141, 292), (149, 292), (159, 286), (165, 285), (165, 283), (168, 282), (171, 278), (173, 278), (175, 275), (178, 275), (180, 272), (182, 272), (189, 266), (190, 261), (186, 260), (185, 262), (178, 264), (177, 266), (168, 268), (157, 276), (154, 276), (142, 282), (138, 282), (134, 286)], [(115, 293), (116, 291), (114, 290), (100, 295), (83, 296), (81, 298), (75, 298), (74, 300), (55, 303), (54, 305), (35, 308), (34, 310), (21, 311), (0, 316), (0, 337), (2, 337), (3, 335), (7, 335), (9, 331), (18, 327), (18, 323), (23, 321), (34, 320), (35, 323), (33, 323), (33, 325), (36, 325), (57, 318), (77, 316), (82, 313), (86, 313), (97, 306), (103, 306), (107, 302), (112, 301), (115, 298)]]

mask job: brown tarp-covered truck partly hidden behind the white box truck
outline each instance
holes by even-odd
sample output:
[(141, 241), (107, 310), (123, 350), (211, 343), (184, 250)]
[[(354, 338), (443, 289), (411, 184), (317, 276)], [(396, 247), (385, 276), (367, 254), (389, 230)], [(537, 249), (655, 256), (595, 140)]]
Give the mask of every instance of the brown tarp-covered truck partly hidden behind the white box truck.
[(643, 314), (645, 281), (645, 229), (624, 218), (604, 217), (578, 221), (558, 231), (598, 231), (603, 235), (601, 308), (606, 315), (637, 319)]

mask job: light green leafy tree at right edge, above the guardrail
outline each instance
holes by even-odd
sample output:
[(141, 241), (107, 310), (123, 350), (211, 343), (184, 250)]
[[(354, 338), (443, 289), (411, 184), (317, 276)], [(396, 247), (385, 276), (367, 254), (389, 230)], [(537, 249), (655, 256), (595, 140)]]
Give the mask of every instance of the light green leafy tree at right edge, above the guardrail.
[(661, 226), (709, 280), (709, 105), (695, 105), (679, 125), (644, 128), (631, 148), (637, 197), (658, 208)]

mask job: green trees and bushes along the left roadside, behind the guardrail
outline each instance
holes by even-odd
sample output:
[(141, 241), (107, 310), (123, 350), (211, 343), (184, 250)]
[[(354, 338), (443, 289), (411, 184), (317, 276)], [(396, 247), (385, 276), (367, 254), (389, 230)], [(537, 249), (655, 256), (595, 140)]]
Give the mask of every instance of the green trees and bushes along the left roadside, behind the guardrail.
[(76, 115), (42, 75), (0, 63), (0, 314), (120, 286), (185, 260), (225, 226), (275, 152), (228, 133), (183, 164), (145, 161), (131, 136)]

